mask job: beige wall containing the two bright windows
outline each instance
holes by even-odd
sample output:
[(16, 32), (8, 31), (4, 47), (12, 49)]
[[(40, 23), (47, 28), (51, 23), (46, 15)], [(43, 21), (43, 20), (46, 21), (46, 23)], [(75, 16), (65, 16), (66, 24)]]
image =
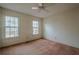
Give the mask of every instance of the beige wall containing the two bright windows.
[[(8, 9), (3, 9), (3, 15), (4, 16), (18, 16), (20, 19), (20, 36), (18, 38), (3, 38), (2, 39), (2, 46), (9, 46), (9, 45), (13, 45), (13, 44), (17, 44), (17, 43), (21, 43), (21, 42), (26, 42), (26, 41), (30, 41), (30, 40), (34, 40), (37, 38), (41, 38), (41, 32), (42, 32), (42, 27), (40, 25), (40, 30), (39, 30), (39, 35), (33, 36), (32, 35), (32, 20), (36, 17), (31, 16), (31, 15), (27, 15), (27, 14), (22, 14), (19, 12), (15, 12), (12, 10), (8, 10)], [(4, 22), (4, 19), (2, 19)], [(41, 23), (41, 19), (39, 18), (39, 21)], [(4, 32), (4, 29), (3, 29)], [(2, 34), (3, 35), (3, 34)]]

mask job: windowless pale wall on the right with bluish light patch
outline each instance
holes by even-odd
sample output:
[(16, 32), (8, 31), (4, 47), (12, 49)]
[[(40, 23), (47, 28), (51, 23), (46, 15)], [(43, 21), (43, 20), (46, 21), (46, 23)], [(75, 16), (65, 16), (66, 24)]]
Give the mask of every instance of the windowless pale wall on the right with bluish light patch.
[(56, 10), (56, 13), (44, 19), (44, 37), (79, 48), (79, 8), (59, 8), (61, 11)]

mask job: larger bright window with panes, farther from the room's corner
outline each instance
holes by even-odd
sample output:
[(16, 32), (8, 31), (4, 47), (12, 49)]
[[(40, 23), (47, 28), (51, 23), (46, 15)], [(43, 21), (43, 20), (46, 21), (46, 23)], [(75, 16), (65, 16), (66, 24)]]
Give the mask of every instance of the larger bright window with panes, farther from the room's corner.
[(5, 37), (18, 37), (18, 17), (6, 16), (5, 17)]

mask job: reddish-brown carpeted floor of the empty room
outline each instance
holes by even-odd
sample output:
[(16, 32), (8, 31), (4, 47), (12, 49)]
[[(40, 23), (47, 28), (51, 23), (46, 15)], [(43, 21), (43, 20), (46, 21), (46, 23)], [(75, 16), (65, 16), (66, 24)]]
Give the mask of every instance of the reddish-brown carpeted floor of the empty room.
[(77, 55), (78, 48), (73, 48), (53, 41), (39, 39), (28, 43), (0, 49), (2, 55)]

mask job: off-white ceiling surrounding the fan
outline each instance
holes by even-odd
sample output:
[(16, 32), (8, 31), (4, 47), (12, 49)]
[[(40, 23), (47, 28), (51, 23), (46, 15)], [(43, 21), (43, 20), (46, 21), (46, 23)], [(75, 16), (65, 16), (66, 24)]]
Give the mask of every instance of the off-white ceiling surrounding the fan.
[(33, 10), (32, 7), (38, 6), (37, 3), (0, 3), (1, 7), (8, 8), (14, 11), (18, 11), (21, 13), (30, 14), (37, 17), (47, 17), (51, 14), (56, 13), (57, 11), (66, 10), (70, 7), (75, 6), (76, 4), (46, 4), (46, 11), (39, 12), (38, 10)]

